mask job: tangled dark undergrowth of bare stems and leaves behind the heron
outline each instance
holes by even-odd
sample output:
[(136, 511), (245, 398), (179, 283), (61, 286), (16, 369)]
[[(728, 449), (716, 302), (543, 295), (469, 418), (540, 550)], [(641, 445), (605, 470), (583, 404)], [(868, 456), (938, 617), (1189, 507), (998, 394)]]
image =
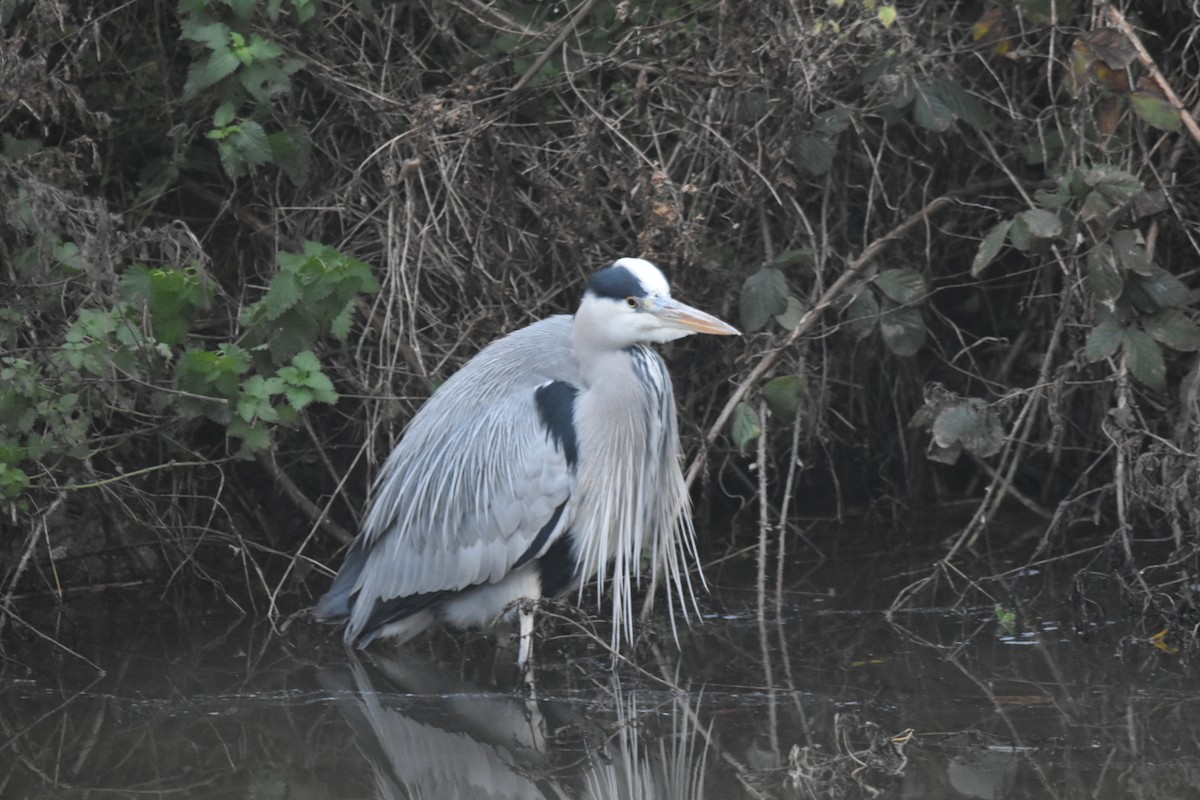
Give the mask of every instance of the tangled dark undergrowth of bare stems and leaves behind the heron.
[(0, 4), (5, 609), (310, 603), (433, 387), (636, 254), (746, 330), (666, 354), (714, 553), (967, 509), (930, 579), (1094, 553), (1190, 631), (1195, 12)]

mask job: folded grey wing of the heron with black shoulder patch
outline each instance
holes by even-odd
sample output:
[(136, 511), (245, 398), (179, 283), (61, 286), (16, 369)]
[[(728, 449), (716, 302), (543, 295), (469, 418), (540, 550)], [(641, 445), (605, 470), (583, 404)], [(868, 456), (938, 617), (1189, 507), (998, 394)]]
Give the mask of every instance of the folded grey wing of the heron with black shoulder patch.
[(577, 385), (564, 317), (493, 343), (434, 392), (376, 483), (352, 630), (377, 600), (496, 582), (553, 543), (575, 487), (563, 426)]

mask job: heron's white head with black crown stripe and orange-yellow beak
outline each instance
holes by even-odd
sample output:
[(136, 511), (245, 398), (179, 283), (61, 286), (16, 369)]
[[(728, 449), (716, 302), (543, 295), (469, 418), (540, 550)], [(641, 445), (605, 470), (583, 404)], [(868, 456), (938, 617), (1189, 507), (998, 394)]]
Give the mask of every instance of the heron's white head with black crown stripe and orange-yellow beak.
[(618, 259), (593, 275), (576, 320), (577, 336), (586, 331), (596, 344), (614, 348), (670, 342), (691, 333), (740, 333), (716, 317), (674, 300), (662, 272), (640, 258)]

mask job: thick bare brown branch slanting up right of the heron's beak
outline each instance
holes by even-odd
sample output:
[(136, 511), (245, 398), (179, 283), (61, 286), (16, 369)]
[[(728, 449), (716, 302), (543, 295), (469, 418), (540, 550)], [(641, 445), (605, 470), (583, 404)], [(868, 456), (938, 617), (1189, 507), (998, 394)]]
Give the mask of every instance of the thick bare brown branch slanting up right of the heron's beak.
[(926, 222), (931, 216), (944, 209), (947, 205), (950, 205), (950, 203), (954, 201), (954, 198), (961, 194), (973, 194), (977, 192), (983, 192), (1008, 185), (1009, 181), (1006, 178), (992, 181), (985, 181), (983, 184), (966, 186), (954, 192), (948, 192), (938, 198), (935, 198), (934, 200), (928, 203), (925, 207), (911, 215), (899, 225), (896, 225), (895, 228), (893, 228), (892, 230), (889, 230), (888, 233), (883, 234), (874, 242), (868, 245), (866, 249), (864, 249), (858, 258), (851, 261), (850, 265), (846, 267), (846, 271), (842, 272), (841, 276), (833, 282), (833, 285), (830, 285), (823, 295), (821, 295), (821, 299), (817, 300), (817, 303), (811, 309), (809, 309), (809, 312), (804, 314), (803, 318), (800, 318), (800, 324), (797, 325), (792, 331), (790, 331), (787, 336), (784, 337), (782, 342), (780, 342), (779, 344), (774, 345), (770, 350), (768, 350), (767, 354), (762, 357), (762, 360), (757, 365), (755, 365), (755, 368), (751, 369), (750, 373), (745, 378), (743, 378), (742, 381), (733, 389), (733, 392), (730, 395), (730, 399), (725, 403), (725, 408), (722, 408), (721, 413), (716, 416), (716, 421), (713, 423), (713, 427), (708, 429), (708, 434), (704, 437), (704, 445), (701, 452), (692, 459), (691, 465), (688, 468), (688, 476), (686, 476), (688, 487), (690, 488), (691, 485), (696, 482), (696, 476), (700, 474), (700, 468), (701, 464), (703, 463), (703, 450), (707, 449), (709, 445), (712, 445), (714, 441), (716, 441), (716, 438), (720, 435), (721, 429), (725, 427), (725, 423), (728, 422), (730, 417), (733, 415), (733, 409), (738, 407), (738, 403), (740, 403), (742, 398), (746, 396), (746, 392), (750, 391), (750, 387), (754, 386), (760, 378), (766, 375), (767, 372), (775, 366), (775, 362), (779, 361), (780, 356), (782, 356), (784, 353), (787, 351), (787, 348), (794, 344), (802, 336), (804, 336), (809, 331), (809, 329), (816, 325), (817, 320), (821, 319), (826, 309), (828, 309), (829, 306), (832, 306), (839, 297), (841, 297), (841, 295), (846, 291), (846, 289), (850, 288), (851, 283), (854, 282), (854, 279), (863, 271), (863, 269), (866, 267), (866, 265), (870, 264), (871, 260), (875, 259), (889, 242), (908, 233), (908, 230), (917, 227), (919, 223)]

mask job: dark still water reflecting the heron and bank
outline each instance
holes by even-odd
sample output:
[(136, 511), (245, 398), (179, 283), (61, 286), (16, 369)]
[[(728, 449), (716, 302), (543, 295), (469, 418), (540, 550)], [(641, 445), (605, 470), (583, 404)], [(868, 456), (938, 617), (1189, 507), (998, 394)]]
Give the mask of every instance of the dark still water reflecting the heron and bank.
[(703, 624), (678, 648), (652, 624), (629, 662), (547, 620), (532, 692), (487, 637), (364, 655), (301, 624), (77, 604), (41, 630), (102, 672), (7, 645), (0, 796), (1195, 796), (1200, 696), (1169, 643), (1036, 570), (1003, 596), (931, 585), (889, 621), (935, 559), (797, 561), (762, 620), (731, 563)]

